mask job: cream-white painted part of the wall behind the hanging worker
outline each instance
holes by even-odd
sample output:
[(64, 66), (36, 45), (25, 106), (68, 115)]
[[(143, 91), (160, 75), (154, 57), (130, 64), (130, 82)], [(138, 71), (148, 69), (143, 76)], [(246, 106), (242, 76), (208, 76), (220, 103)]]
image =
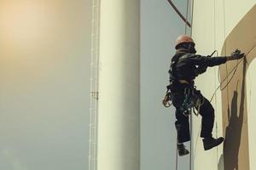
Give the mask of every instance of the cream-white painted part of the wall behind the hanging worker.
[[(245, 14), (253, 8), (255, 3), (255, 0), (246, 2), (240, 0), (236, 1), (236, 3), (232, 0), (215, 0), (211, 2), (195, 0), (192, 37), (195, 39), (198, 53), (207, 55), (211, 54), (214, 49), (217, 49), (220, 55), (225, 39)], [(214, 90), (219, 85), (218, 67), (209, 68), (207, 73), (197, 79), (196, 85), (201, 89), (202, 94), (205, 94), (207, 99), (211, 99)], [(221, 91), (218, 90), (216, 98), (212, 100), (212, 105), (216, 111), (214, 136), (215, 134), (216, 136), (223, 135), (221, 100)], [(194, 119), (194, 125), (195, 169), (204, 169), (206, 165), (212, 170), (223, 169), (223, 158), (221, 157), (223, 145), (209, 151), (204, 151), (201, 139), (197, 139), (197, 133), (201, 127), (201, 119)], [(202, 159), (205, 160), (204, 163), (201, 163)]]

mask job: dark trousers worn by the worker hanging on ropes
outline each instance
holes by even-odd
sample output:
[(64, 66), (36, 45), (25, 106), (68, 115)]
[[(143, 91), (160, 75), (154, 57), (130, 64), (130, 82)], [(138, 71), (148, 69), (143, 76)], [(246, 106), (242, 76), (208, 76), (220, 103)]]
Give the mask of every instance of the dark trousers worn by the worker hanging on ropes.
[[(200, 107), (199, 114), (201, 115), (201, 138), (212, 137), (212, 128), (214, 123), (214, 109), (199, 90), (195, 90), (196, 94), (201, 97), (203, 104)], [(176, 107), (176, 119), (175, 127), (177, 129), (177, 141), (178, 143), (187, 142), (190, 140), (189, 133), (189, 116), (184, 116), (180, 111), (180, 107), (183, 104), (185, 95), (183, 93), (172, 94), (172, 104)], [(195, 108), (197, 111), (199, 108)]]

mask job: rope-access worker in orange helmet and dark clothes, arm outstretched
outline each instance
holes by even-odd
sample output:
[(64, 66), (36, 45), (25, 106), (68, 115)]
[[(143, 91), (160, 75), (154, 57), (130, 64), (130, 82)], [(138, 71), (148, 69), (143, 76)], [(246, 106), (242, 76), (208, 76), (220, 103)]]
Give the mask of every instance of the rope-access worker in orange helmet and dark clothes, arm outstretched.
[[(236, 50), (227, 57), (210, 57), (195, 54), (195, 42), (186, 35), (177, 37), (177, 52), (172, 57), (172, 64), (169, 70), (172, 104), (176, 108), (175, 127), (177, 128), (177, 150), (179, 156), (189, 154), (189, 150), (185, 149), (184, 142), (190, 140), (189, 134), (189, 113), (191, 107), (202, 116), (201, 119), (201, 138), (205, 150), (221, 144), (224, 138), (212, 138), (212, 127), (214, 123), (214, 109), (211, 103), (195, 89), (195, 77), (207, 70), (207, 67), (221, 65), (226, 61), (233, 59), (241, 59), (244, 54)], [(190, 108), (190, 109), (189, 109)]]

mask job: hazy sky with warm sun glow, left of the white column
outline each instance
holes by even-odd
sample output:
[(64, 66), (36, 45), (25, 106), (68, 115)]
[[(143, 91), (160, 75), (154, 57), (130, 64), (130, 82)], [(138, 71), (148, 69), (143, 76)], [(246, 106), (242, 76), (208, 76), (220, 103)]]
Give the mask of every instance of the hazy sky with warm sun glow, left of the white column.
[(0, 0), (0, 169), (88, 169), (90, 0)]

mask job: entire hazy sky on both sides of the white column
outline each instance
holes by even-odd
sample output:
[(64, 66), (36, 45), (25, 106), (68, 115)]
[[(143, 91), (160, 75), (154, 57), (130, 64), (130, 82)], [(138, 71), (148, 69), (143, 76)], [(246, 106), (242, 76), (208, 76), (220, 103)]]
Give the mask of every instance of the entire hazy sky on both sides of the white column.
[[(186, 1), (174, 2), (185, 14)], [(0, 0), (0, 169), (88, 169), (90, 6)], [(167, 1), (141, 1), (142, 170), (175, 166), (174, 110), (161, 100), (183, 32)]]

